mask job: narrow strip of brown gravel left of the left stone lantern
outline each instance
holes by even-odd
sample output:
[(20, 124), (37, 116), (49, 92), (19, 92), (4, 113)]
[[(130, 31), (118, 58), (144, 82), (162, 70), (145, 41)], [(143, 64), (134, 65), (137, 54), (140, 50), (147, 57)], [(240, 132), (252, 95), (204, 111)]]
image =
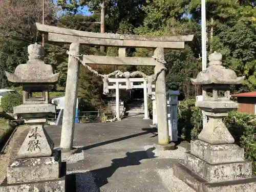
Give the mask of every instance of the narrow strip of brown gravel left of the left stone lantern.
[(6, 146), (4, 153), (0, 156), (0, 183), (6, 178), (6, 168), (9, 162), (16, 158), (18, 152), (18, 149), (15, 148), (16, 139), (27, 129), (26, 125), (19, 126)]

